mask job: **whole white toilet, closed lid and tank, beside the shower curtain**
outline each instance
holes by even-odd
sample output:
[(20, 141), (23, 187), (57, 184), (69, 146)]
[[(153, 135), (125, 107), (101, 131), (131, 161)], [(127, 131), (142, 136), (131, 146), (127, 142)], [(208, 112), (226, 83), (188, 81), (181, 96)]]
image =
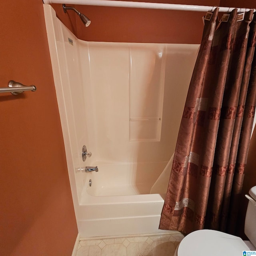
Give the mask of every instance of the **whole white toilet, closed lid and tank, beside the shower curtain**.
[(256, 186), (252, 187), (249, 199), (244, 233), (250, 241), (216, 230), (197, 230), (180, 242), (174, 256), (243, 256), (244, 251), (256, 250)]

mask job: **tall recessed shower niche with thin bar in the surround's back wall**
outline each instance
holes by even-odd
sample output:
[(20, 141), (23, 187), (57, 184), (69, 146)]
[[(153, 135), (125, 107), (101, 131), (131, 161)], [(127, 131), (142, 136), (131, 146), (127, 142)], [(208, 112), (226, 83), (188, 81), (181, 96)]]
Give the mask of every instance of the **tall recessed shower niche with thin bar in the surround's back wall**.
[(130, 142), (160, 141), (165, 59), (163, 45), (129, 48)]

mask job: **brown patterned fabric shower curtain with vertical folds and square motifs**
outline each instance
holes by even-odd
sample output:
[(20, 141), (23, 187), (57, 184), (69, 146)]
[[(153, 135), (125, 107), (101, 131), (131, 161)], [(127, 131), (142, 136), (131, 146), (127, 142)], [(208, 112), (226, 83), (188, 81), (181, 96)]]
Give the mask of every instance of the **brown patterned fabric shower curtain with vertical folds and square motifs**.
[(256, 104), (256, 15), (207, 13), (160, 229), (234, 233)]

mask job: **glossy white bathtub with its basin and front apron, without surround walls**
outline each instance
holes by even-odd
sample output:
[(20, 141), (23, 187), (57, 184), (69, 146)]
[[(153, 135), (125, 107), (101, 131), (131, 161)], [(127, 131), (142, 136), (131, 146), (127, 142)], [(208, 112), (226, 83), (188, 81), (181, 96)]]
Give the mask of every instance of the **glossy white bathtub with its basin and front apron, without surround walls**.
[[(158, 230), (165, 194), (149, 194), (166, 162), (101, 164), (86, 173), (78, 216), (88, 236), (154, 234)], [(148, 178), (141, 178), (148, 173)], [(154, 174), (153, 174), (154, 173)], [(112, 177), (112, 178), (111, 178)], [(89, 185), (91, 180), (92, 186)]]

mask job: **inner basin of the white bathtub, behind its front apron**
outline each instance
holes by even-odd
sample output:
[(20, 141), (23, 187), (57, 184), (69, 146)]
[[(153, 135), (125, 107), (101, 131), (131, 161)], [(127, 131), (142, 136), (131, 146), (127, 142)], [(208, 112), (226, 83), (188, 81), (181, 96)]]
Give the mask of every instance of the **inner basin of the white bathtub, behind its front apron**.
[[(90, 196), (131, 196), (150, 194), (150, 189), (167, 162), (113, 163), (96, 162), (98, 172), (87, 172), (83, 194)], [(89, 186), (89, 180), (92, 186)], [(103, 200), (106, 200), (106, 198)]]

